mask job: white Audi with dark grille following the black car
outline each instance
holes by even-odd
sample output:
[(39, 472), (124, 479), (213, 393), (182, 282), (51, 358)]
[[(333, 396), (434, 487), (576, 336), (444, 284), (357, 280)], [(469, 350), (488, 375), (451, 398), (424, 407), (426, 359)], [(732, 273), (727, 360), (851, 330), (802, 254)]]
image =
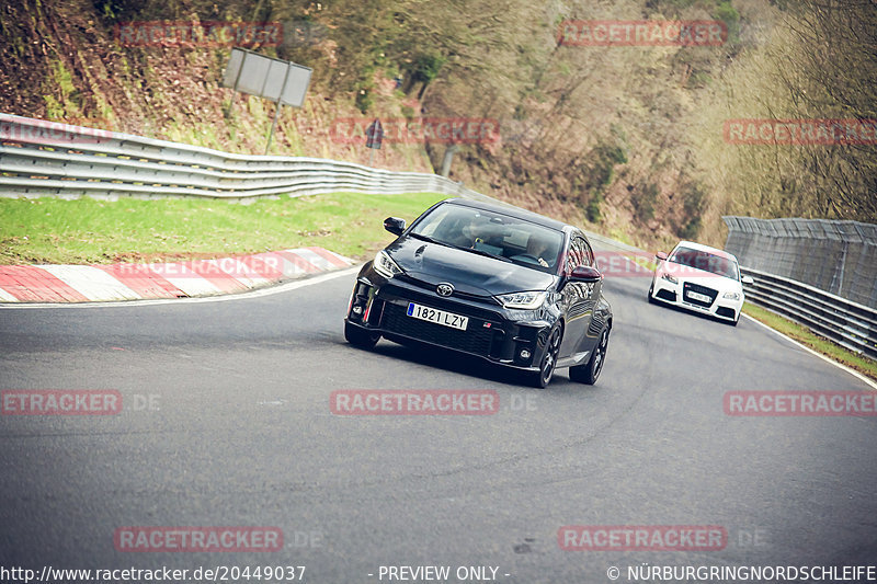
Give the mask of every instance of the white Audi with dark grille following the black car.
[(694, 312), (709, 314), (734, 327), (743, 308), (743, 284), (740, 266), (732, 254), (694, 243), (680, 241), (668, 256), (656, 254), (658, 267), (649, 288), (649, 302), (663, 302)]

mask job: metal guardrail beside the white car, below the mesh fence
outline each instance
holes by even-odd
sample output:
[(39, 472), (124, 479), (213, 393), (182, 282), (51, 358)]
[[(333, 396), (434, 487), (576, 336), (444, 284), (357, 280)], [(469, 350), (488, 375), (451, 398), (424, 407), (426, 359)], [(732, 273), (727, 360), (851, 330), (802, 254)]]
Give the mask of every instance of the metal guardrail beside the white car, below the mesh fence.
[(800, 282), (750, 267), (747, 300), (809, 328), (836, 344), (877, 359), (877, 310)]

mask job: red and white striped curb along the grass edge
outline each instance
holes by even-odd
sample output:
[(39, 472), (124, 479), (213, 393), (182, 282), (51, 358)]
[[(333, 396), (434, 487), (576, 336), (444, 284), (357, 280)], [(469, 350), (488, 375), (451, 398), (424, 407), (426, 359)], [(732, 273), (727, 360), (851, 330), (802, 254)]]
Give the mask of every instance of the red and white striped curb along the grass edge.
[(163, 264), (0, 265), (0, 302), (94, 302), (234, 294), (349, 267), (322, 248)]

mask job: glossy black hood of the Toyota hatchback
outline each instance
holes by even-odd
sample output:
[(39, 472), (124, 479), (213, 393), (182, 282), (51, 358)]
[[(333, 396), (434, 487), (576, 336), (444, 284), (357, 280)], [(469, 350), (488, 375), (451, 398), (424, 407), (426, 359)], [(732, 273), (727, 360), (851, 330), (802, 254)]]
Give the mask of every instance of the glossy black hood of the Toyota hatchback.
[(557, 277), (538, 270), (414, 238), (400, 239), (386, 251), (408, 276), (431, 286), (449, 283), (458, 291), (475, 296), (544, 290)]

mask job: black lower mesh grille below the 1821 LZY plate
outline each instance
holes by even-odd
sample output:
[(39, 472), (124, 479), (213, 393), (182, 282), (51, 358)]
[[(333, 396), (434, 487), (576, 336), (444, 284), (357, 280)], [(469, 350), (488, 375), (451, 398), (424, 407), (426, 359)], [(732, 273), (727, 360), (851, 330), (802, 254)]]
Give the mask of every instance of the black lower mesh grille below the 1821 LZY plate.
[(490, 356), (499, 341), (502, 330), (485, 327), (485, 321), (469, 317), (467, 330), (460, 331), (442, 324), (409, 317), (406, 307), (386, 302), (380, 327), (387, 332), (398, 333), (411, 339), (424, 341), (466, 353)]

